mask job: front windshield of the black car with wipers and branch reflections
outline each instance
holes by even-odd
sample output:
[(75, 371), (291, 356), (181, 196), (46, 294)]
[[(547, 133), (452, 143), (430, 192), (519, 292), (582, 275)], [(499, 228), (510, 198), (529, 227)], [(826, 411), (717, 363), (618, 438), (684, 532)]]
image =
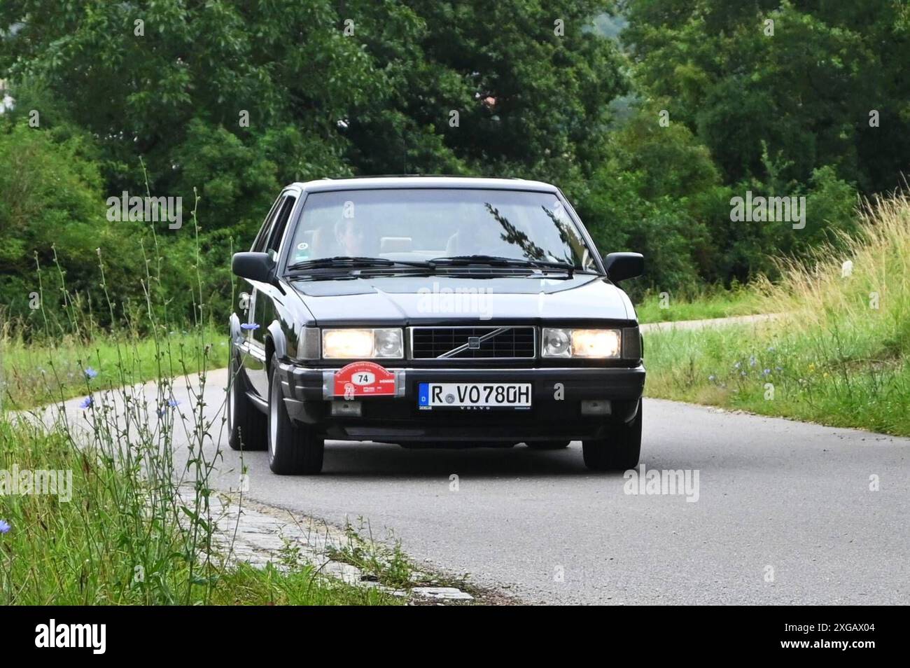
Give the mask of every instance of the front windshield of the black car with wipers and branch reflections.
[[(481, 257), (482, 256), (482, 257)], [(561, 200), (524, 190), (396, 188), (308, 195), (288, 266), (326, 258), (495, 264), (559, 262), (596, 270)]]

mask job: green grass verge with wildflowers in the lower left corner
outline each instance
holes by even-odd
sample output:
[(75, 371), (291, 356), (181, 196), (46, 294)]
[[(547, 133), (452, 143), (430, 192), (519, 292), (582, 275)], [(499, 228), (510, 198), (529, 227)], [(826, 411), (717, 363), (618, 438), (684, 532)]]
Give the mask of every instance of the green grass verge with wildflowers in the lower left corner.
[(0, 604), (399, 603), (306, 563), (227, 565), (209, 551), (205, 511), (149, 474), (157, 462), (140, 473), (112, 454), (0, 420)]

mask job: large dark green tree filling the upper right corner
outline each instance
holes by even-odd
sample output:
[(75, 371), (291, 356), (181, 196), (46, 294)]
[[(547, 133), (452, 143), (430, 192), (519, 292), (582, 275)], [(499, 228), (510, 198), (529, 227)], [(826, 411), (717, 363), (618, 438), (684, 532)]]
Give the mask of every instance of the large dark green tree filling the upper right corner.
[[(623, 38), (646, 96), (711, 149), (724, 180), (767, 177), (763, 143), (806, 184), (816, 168), (896, 187), (910, 151), (902, 3), (630, 0)], [(768, 23), (773, 22), (773, 23)], [(870, 113), (879, 112), (878, 127)]]

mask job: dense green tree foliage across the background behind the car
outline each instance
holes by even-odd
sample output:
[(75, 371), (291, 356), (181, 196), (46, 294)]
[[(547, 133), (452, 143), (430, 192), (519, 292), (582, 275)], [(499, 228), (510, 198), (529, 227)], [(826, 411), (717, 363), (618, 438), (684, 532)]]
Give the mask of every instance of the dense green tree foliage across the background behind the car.
[[(56, 244), (86, 292), (102, 248), (121, 308), (167, 260), (148, 288), (182, 317), (194, 300), (214, 312), (227, 255), (295, 180), (551, 181), (602, 249), (647, 255), (634, 291), (773, 274), (770, 258), (849, 233), (857, 190), (900, 182), (904, 3), (613, 5), (5, 0), (2, 302), (28, 315), (25, 277)], [(187, 220), (196, 206), (198, 235), (106, 220), (106, 197), (147, 189), (183, 197)], [(732, 220), (746, 191), (806, 197), (806, 227)], [(205, 294), (190, 290), (197, 267)]]

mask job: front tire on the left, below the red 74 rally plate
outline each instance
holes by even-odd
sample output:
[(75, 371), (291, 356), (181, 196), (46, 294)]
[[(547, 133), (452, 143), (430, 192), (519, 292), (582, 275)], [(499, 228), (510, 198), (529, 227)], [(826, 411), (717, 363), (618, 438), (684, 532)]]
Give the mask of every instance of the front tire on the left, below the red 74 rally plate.
[(324, 450), (325, 440), (290, 419), (278, 378), (278, 358), (273, 355), (268, 380), (268, 468), (278, 475), (319, 473)]

